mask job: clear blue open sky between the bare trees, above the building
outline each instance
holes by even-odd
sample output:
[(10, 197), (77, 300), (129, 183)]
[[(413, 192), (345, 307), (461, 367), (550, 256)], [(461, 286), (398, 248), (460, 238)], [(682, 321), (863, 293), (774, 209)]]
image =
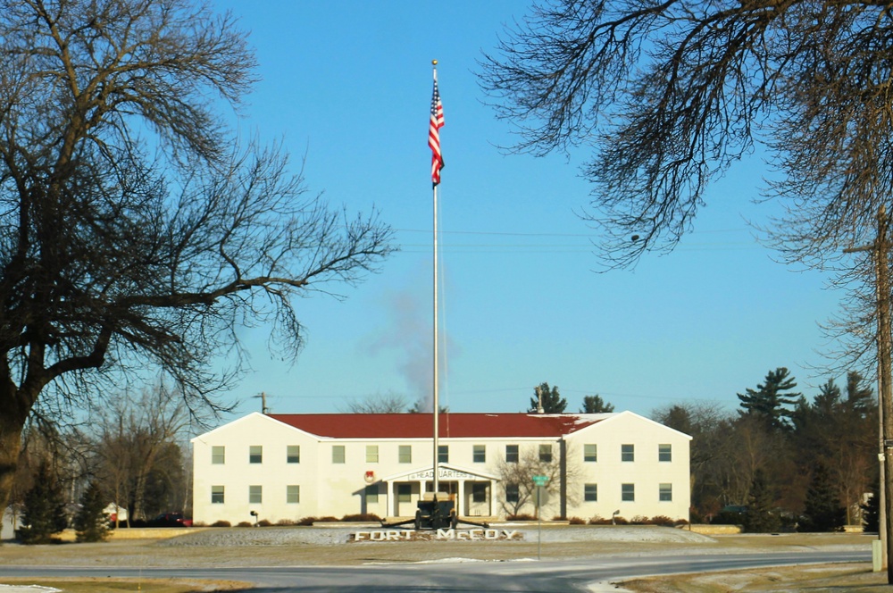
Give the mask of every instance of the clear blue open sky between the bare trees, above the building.
[(263, 80), (239, 121), (243, 137), (282, 141), (308, 188), (350, 212), (380, 210), (401, 251), (348, 298), (298, 303), (307, 343), (294, 366), (245, 333), (255, 372), (228, 397), (238, 413), (268, 394), (278, 413), (344, 410), (351, 400), (430, 393), (431, 188), (427, 146), (432, 59), (446, 126), (440, 185), (447, 337), (442, 405), (520, 412), (534, 386), (557, 385), (569, 411), (599, 394), (650, 414), (684, 401), (738, 405), (736, 393), (787, 366), (806, 395), (828, 377), (818, 327), (839, 293), (817, 272), (772, 261), (747, 221), (767, 168), (754, 157), (707, 192), (695, 232), (672, 255), (596, 273), (588, 204), (570, 156), (505, 155), (511, 126), (484, 104), (474, 72), (518, 1), (214, 0), (230, 9)]

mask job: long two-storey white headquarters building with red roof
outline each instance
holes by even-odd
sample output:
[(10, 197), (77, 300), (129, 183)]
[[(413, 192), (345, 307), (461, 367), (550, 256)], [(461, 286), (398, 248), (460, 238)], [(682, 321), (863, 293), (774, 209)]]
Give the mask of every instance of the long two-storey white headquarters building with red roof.
[[(192, 439), (194, 521), (412, 517), (433, 489), (432, 426), (430, 414), (248, 414)], [(439, 489), (462, 517), (535, 514), (531, 485), (512, 483), (532, 472), (550, 477), (544, 518), (689, 519), (691, 437), (636, 413), (444, 413), (439, 432)]]

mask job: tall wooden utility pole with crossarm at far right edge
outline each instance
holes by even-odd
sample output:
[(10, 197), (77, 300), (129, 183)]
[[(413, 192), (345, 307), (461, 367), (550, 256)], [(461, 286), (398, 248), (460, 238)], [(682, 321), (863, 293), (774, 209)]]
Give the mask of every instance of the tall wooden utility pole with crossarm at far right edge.
[(890, 283), (889, 283), (889, 218), (884, 205), (878, 208), (878, 235), (868, 246), (844, 249), (844, 253), (872, 251), (874, 255), (875, 298), (878, 317), (878, 440), (880, 461), (880, 488), (878, 492), (881, 570), (887, 569), (887, 581), (893, 584), (893, 562), (890, 558), (889, 539), (893, 533), (890, 518), (893, 515), (893, 379), (890, 377)]

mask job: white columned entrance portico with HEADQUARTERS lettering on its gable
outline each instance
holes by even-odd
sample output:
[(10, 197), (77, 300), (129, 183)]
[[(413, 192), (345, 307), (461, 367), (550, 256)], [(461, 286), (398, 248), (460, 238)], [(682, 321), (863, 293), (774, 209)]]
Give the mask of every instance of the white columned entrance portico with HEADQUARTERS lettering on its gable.
[[(416, 504), (434, 490), (433, 468), (416, 469), (382, 478), (388, 501), (388, 513), (393, 516), (413, 516)], [(459, 516), (493, 516), (497, 491), (497, 476), (474, 472), (449, 464), (438, 466), (439, 494), (455, 500)]]

